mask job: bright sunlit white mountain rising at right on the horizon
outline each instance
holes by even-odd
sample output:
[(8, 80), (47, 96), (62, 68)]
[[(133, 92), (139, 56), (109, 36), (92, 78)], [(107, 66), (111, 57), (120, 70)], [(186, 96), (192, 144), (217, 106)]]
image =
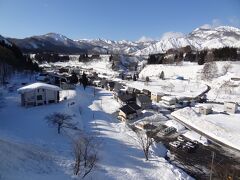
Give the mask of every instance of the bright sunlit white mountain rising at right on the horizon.
[(162, 53), (171, 48), (180, 48), (190, 45), (193, 49), (221, 48), (225, 46), (240, 47), (240, 29), (219, 26), (216, 28), (200, 27), (187, 35), (172, 33), (147, 48), (135, 52), (135, 55)]

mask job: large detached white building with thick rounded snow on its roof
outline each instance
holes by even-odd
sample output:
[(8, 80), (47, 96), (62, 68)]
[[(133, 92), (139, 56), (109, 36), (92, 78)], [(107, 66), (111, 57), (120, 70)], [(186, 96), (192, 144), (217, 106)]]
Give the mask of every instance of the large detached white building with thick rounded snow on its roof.
[(59, 102), (59, 91), (62, 89), (58, 86), (33, 83), (18, 89), (21, 94), (22, 106), (39, 106)]

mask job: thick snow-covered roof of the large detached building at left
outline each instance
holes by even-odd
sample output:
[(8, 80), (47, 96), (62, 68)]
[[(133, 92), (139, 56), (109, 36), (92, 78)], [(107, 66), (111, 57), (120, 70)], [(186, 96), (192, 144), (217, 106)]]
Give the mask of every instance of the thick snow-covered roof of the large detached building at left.
[(24, 86), (24, 87), (21, 87), (19, 88), (17, 91), (19, 93), (25, 93), (25, 92), (30, 92), (34, 89), (48, 89), (48, 90), (53, 90), (53, 91), (61, 91), (62, 89), (58, 86), (54, 86), (54, 85), (51, 85), (51, 84), (46, 84), (46, 83), (40, 83), (40, 82), (37, 82), (37, 83), (33, 83), (33, 84), (30, 84), (30, 85), (27, 85), (27, 86)]

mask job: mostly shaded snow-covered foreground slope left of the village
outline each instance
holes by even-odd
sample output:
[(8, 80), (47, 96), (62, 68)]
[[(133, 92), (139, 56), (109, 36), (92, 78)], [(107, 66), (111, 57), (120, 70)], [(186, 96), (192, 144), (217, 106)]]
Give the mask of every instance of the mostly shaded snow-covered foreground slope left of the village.
[[(20, 80), (16, 80), (19, 86)], [(72, 140), (75, 130), (57, 134), (45, 117), (53, 112), (73, 115), (77, 126), (95, 134), (100, 142), (99, 161), (87, 179), (191, 179), (185, 172), (157, 156), (154, 146), (149, 161), (136, 143), (136, 134), (114, 116), (119, 104), (105, 90), (82, 87), (63, 91), (68, 100), (59, 104), (21, 107), (16, 92), (4, 92), (0, 109), (0, 179), (73, 179)], [(69, 105), (71, 102), (75, 104)], [(81, 114), (79, 113), (81, 109)], [(161, 146), (160, 146), (161, 147)], [(158, 151), (158, 152), (157, 152)]]

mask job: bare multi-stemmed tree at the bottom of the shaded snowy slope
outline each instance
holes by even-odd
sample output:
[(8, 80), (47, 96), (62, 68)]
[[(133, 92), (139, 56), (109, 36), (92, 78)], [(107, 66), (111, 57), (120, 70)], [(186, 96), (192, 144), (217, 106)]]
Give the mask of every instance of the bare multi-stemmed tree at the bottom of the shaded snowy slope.
[(81, 135), (73, 143), (74, 174), (86, 177), (96, 166), (98, 160), (95, 138), (90, 135)]

